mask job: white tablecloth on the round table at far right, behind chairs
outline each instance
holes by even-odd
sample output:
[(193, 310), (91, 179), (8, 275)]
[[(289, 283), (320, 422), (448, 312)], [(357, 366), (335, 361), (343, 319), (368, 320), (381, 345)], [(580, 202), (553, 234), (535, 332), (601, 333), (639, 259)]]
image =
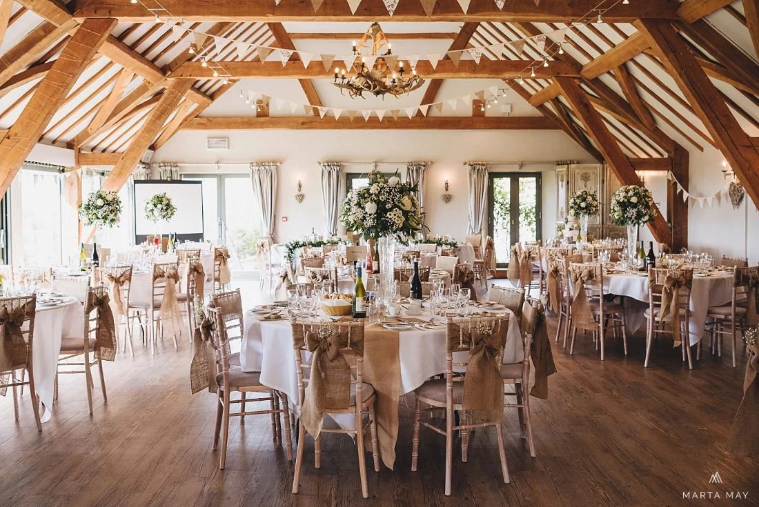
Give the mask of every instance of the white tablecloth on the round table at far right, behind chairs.
[[(640, 329), (645, 323), (643, 312), (648, 307), (648, 276), (615, 274), (606, 275), (603, 280), (606, 292), (628, 298), (628, 301), (625, 301), (628, 329), (632, 332)], [(732, 275), (694, 276), (689, 304), (691, 314), (688, 320), (691, 345), (698, 343), (704, 335), (708, 308), (728, 304), (730, 301)]]

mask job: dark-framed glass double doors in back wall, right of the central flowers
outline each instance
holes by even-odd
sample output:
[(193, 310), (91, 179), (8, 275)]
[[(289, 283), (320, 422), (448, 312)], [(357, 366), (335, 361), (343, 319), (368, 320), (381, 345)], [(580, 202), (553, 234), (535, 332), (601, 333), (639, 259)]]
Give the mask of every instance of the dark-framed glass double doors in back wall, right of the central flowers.
[(491, 172), (487, 233), (496, 244), (498, 267), (508, 265), (511, 247), (541, 239), (540, 172)]

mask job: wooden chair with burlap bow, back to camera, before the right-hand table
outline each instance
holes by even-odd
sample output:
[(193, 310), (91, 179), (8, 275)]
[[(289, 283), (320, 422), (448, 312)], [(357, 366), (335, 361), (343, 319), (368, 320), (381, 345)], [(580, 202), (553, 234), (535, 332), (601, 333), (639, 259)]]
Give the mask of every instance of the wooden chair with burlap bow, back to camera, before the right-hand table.
[[(668, 280), (669, 279), (669, 280)], [(679, 299), (678, 311), (679, 316), (675, 319), (671, 311), (662, 317), (664, 292), (667, 285), (672, 285), (672, 280), (676, 283), (672, 287), (670, 300), (677, 297)], [(644, 367), (648, 367), (653, 339), (657, 334), (675, 335), (675, 329), (679, 328), (679, 335), (682, 342), (682, 361), (688, 360), (688, 368), (693, 369), (691, 359), (690, 336), (688, 323), (690, 322), (691, 310), (691, 288), (693, 287), (693, 269), (681, 268), (649, 268), (648, 269), (648, 308), (644, 311), (646, 316), (646, 359)], [(677, 296), (675, 296), (677, 292)], [(669, 310), (669, 309), (668, 309)], [(666, 329), (665, 326), (669, 326)]]

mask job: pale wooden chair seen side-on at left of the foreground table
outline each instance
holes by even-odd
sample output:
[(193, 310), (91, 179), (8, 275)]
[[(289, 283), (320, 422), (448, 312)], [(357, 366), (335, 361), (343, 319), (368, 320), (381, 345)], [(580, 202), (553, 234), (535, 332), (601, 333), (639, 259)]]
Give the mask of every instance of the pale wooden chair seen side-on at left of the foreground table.
[[(282, 429), (279, 414), (285, 416), (285, 449), (288, 461), (292, 461), (292, 442), (290, 436), (290, 410), (288, 398), (284, 392), (275, 391), (260, 383), (260, 372), (243, 371), (239, 364), (231, 361), (231, 340), (242, 339), (242, 310), (240, 291), (217, 292), (213, 294), (213, 307), (209, 308), (214, 326), (211, 332), (213, 347), (216, 349), (216, 385), (219, 386), (219, 399), (216, 407), (216, 426), (213, 432), (213, 449), (219, 446), (219, 431), (222, 432), (222, 449), (219, 454), (219, 470), (223, 470), (227, 458), (229, 436), (229, 418), (246, 415), (269, 414), (272, 419), (272, 433), (276, 445), (282, 445)], [(239, 357), (239, 356), (238, 356)], [(232, 392), (239, 392), (240, 399), (231, 399)], [(263, 395), (247, 398), (247, 393)], [(282, 407), (280, 408), (280, 401)], [(269, 409), (247, 411), (246, 403), (269, 402)], [(232, 405), (240, 404), (240, 411), (231, 411)]]

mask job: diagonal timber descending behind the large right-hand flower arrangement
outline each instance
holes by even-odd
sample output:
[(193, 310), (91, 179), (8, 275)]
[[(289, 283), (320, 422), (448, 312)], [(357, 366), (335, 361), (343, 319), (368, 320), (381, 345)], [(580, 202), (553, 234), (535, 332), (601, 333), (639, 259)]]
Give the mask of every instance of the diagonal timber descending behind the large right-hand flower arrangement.
[[(619, 181), (623, 185), (642, 186), (643, 181), (635, 173), (635, 167), (632, 165), (632, 162), (622, 152), (622, 148), (619, 147), (616, 139), (609, 132), (603, 118), (591, 105), (591, 102), (587, 100), (587, 95), (575, 83), (575, 80), (569, 77), (557, 77), (556, 82), (559, 83), (559, 87), (562, 89), (562, 96), (572, 105), (572, 109), (575, 110), (578, 118), (585, 125), (587, 133), (593, 137), (596, 146), (603, 153), (603, 158), (609, 163), (609, 167), (612, 168)], [(648, 222), (648, 227), (657, 241), (669, 244), (671, 239), (669, 226), (666, 224), (666, 219), (661, 213), (657, 213), (653, 222)]]

